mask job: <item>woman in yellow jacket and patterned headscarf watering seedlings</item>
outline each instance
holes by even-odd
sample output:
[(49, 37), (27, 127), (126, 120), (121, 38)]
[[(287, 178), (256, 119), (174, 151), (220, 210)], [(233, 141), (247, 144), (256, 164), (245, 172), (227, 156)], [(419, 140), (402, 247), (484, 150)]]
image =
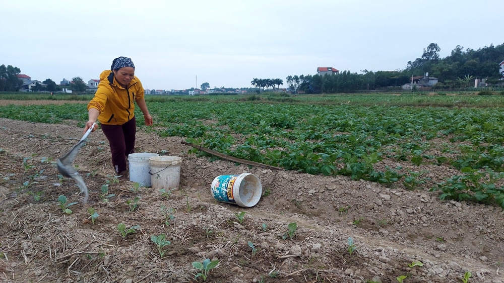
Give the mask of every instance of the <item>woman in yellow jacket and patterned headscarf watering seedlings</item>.
[[(128, 57), (112, 61), (110, 70), (100, 74), (100, 83), (94, 98), (88, 104), (87, 131), (98, 120), (108, 139), (112, 153), (112, 165), (117, 175), (126, 176), (128, 154), (135, 149), (135, 103), (144, 113), (145, 124), (152, 126), (152, 116), (147, 110), (144, 87), (135, 76), (135, 65)], [(93, 132), (98, 128), (96, 125)]]

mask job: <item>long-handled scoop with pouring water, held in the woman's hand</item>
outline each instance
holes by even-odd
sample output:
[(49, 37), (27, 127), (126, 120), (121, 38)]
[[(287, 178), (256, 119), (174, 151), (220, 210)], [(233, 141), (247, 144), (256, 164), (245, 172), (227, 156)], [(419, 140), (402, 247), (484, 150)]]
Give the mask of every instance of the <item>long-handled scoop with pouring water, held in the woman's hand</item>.
[(86, 133), (84, 133), (84, 136), (82, 136), (81, 140), (76, 145), (74, 145), (74, 147), (65, 155), (56, 160), (56, 167), (58, 168), (59, 173), (61, 173), (61, 175), (64, 175), (65, 177), (71, 177), (76, 180), (77, 186), (80, 188), (81, 193), (84, 193), (84, 200), (82, 202), (85, 204), (88, 202), (89, 197), (88, 187), (86, 186), (86, 183), (79, 175), (79, 173), (75, 170), (74, 167), (72, 167), (72, 161), (74, 161), (75, 156), (77, 155), (81, 147), (86, 143), (86, 138), (89, 136), (95, 125), (96, 123), (93, 123), (93, 126), (91, 126), (91, 128), (89, 128)]

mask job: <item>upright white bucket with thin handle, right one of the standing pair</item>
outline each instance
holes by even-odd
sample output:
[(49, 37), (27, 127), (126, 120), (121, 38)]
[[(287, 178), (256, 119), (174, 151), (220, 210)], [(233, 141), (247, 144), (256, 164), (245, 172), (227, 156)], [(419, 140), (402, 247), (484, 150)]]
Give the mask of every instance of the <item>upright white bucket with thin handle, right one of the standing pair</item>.
[(151, 164), (152, 188), (176, 188), (180, 184), (182, 157), (155, 156), (149, 158)]

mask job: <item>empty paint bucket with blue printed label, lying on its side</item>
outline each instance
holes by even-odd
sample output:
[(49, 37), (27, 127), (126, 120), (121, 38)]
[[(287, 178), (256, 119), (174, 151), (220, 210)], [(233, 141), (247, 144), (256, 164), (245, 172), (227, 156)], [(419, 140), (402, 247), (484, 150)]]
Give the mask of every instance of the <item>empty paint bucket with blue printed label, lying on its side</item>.
[(263, 186), (254, 174), (220, 175), (212, 181), (210, 191), (219, 202), (253, 207), (261, 199)]

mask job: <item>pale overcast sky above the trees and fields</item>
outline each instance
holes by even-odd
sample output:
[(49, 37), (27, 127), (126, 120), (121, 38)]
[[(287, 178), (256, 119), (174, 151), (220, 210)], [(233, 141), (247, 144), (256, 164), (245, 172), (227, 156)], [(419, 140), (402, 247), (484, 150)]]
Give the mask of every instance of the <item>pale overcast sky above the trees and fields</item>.
[(58, 84), (127, 56), (149, 89), (286, 87), (317, 67), (402, 70), (432, 42), (440, 57), (504, 43), (502, 0), (6, 0), (0, 11), (0, 64)]

